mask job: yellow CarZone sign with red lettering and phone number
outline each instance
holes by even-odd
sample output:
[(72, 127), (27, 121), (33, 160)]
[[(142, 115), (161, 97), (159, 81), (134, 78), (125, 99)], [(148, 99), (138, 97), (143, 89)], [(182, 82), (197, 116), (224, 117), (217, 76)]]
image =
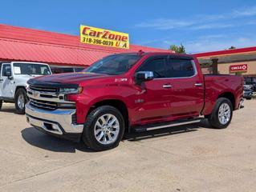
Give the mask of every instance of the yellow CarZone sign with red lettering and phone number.
[(129, 49), (129, 35), (92, 26), (80, 26), (80, 42)]

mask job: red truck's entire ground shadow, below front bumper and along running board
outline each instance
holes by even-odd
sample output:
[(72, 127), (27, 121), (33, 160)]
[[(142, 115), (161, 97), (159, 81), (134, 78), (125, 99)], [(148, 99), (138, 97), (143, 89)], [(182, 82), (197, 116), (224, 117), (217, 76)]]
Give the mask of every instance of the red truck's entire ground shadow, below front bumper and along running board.
[[(201, 128), (210, 128), (207, 121), (202, 121), (193, 125), (169, 127), (161, 130), (151, 130), (142, 133), (124, 134), (123, 141), (136, 142), (150, 138), (161, 138), (172, 136), (174, 134), (186, 134), (197, 131)], [(62, 138), (41, 133), (33, 127), (26, 128), (21, 131), (22, 138), (31, 146), (36, 146), (44, 150), (54, 152), (75, 153), (75, 150), (91, 153), (93, 150), (84, 146), (83, 142), (70, 142)]]

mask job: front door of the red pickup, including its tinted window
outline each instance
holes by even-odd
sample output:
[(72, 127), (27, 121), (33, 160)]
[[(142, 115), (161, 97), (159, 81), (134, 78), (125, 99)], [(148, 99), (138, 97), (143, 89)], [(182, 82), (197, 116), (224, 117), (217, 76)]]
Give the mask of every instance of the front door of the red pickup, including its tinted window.
[(154, 79), (140, 85), (136, 97), (135, 122), (154, 122), (171, 114), (169, 108), (169, 81), (165, 79), (167, 56), (148, 58), (136, 72), (152, 71)]

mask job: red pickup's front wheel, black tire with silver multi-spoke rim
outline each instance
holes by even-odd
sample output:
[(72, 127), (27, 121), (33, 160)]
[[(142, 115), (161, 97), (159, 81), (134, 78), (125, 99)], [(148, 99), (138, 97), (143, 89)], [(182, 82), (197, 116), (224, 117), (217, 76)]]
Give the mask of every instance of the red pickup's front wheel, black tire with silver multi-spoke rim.
[[(116, 121), (112, 122), (115, 118)], [(119, 110), (113, 106), (100, 106), (87, 116), (83, 126), (83, 142), (95, 151), (115, 148), (124, 136), (124, 125), (124, 117)]]

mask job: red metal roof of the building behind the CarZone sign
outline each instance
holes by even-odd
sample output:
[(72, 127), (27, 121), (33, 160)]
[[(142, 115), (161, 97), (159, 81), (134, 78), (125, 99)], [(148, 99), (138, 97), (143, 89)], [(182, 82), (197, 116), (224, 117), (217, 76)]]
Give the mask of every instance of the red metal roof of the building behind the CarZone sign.
[[(108, 54), (143, 50), (163, 51), (147, 46), (130, 45), (129, 50), (93, 46), (79, 42), (79, 36), (30, 30), (0, 24), (0, 59), (48, 62), (56, 65), (90, 65)], [(165, 50), (166, 51), (166, 50)]]

